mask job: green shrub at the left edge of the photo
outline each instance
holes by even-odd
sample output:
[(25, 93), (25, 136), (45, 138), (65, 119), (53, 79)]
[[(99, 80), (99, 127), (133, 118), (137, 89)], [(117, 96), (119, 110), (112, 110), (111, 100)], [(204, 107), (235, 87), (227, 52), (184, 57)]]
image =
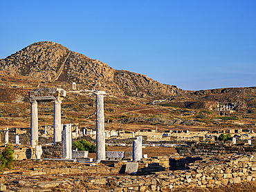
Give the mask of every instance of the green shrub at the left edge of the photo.
[(6, 168), (12, 169), (12, 163), (15, 162), (12, 154), (12, 145), (8, 144), (0, 153), (0, 171), (4, 171)]

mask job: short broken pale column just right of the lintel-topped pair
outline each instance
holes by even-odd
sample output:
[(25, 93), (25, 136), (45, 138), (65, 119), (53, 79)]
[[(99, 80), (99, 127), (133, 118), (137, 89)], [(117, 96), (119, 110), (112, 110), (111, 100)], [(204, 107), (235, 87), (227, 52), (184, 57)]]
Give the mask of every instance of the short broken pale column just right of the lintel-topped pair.
[(62, 131), (62, 157), (72, 159), (72, 126), (64, 124)]

